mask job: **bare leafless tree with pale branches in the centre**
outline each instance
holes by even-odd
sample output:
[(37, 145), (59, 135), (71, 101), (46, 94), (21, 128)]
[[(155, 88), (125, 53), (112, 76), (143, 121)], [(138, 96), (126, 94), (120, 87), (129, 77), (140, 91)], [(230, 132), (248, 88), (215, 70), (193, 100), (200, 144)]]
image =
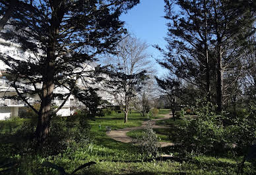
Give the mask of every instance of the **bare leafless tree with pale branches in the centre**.
[(150, 72), (149, 55), (146, 53), (148, 45), (131, 36), (124, 37), (116, 47), (117, 55), (108, 58), (111, 66), (113, 95), (117, 103), (125, 112), (124, 122), (128, 120), (131, 99), (143, 87)]

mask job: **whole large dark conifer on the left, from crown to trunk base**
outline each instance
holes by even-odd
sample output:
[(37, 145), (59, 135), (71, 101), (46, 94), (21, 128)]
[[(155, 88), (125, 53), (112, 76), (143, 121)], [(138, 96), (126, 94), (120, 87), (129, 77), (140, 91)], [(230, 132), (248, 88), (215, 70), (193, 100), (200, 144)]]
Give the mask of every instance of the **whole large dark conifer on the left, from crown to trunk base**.
[[(9, 30), (2, 37), (18, 43), (20, 49), (32, 55), (20, 60), (1, 54), (0, 59), (9, 66), (11, 86), (18, 94), (12, 98), (22, 99), (38, 114), (36, 137), (38, 145), (42, 145), (49, 134), (52, 116), (78, 88), (79, 78), (94, 78), (86, 65), (96, 61), (101, 53), (113, 53), (125, 32), (119, 16), (139, 0), (30, 2), (30, 8), (13, 14), (7, 24)], [(32, 88), (19, 86), (18, 82)], [(51, 112), (53, 89), (57, 87), (69, 89), (69, 93), (62, 95), (63, 104)], [(28, 95), (40, 97), (39, 111), (28, 103)]]

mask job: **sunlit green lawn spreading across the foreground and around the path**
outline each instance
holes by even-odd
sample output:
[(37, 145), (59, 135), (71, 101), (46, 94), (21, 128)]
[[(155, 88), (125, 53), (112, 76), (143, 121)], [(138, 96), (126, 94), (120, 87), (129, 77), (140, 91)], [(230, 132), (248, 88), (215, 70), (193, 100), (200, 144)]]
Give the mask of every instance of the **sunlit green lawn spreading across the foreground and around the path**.
[[(154, 118), (162, 117), (161, 114), (168, 113), (168, 110), (160, 110), (160, 114)], [(140, 126), (147, 117), (140, 116), (138, 112), (133, 111), (126, 124), (123, 123), (123, 114), (112, 114), (104, 117), (96, 117), (94, 120), (88, 120), (91, 126), (92, 139), (85, 145), (76, 145), (67, 147), (61, 153), (51, 156), (38, 155), (12, 155), (11, 158), (18, 161), (18, 168), (14, 168), (12, 173), (8, 174), (58, 174), (53, 168), (45, 168), (42, 162), (49, 161), (65, 168), (66, 172), (71, 173), (75, 168), (86, 162), (94, 161), (96, 164), (89, 168), (79, 170), (78, 174), (235, 174), (237, 162), (232, 159), (221, 159), (215, 157), (194, 157), (193, 159), (171, 159), (171, 160), (149, 160), (143, 159), (139, 149), (129, 143), (121, 143), (106, 136), (106, 126), (112, 127), (112, 130)], [(14, 133), (20, 128), (25, 120), (1, 121), (0, 133)], [(172, 120), (164, 122), (170, 125)], [(176, 120), (175, 124), (182, 122)], [(99, 127), (99, 125), (101, 127)], [(12, 128), (12, 129), (10, 129)], [(11, 130), (11, 131), (10, 131)], [(166, 129), (154, 130), (161, 141), (168, 141)], [(129, 132), (129, 136), (139, 134), (141, 131)], [(18, 140), (18, 139), (17, 139)], [(0, 144), (1, 145), (1, 144)], [(11, 147), (2, 147), (0, 149), (0, 167), (1, 162), (7, 155), (5, 152)], [(17, 148), (16, 148), (17, 149)], [(162, 153), (170, 153), (171, 148), (162, 149)], [(8, 162), (8, 161), (7, 161)], [(1, 171), (1, 168), (0, 168)], [(253, 174), (251, 164), (245, 164), (245, 173)]]

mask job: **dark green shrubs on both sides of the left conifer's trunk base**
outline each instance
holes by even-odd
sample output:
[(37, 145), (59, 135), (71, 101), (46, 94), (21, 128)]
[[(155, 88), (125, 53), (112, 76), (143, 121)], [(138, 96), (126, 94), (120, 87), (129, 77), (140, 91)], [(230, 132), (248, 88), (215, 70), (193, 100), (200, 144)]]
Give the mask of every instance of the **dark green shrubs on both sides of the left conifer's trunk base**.
[[(37, 151), (35, 130), (36, 122), (28, 120), (14, 134), (1, 136), (1, 152), (4, 151), (7, 157), (17, 154), (34, 155)], [(90, 125), (82, 116), (56, 116), (51, 121), (50, 130), (46, 143), (42, 145), (43, 151), (40, 151), (45, 157), (62, 153), (67, 147), (86, 145), (90, 141)], [(5, 150), (5, 147), (9, 149)]]

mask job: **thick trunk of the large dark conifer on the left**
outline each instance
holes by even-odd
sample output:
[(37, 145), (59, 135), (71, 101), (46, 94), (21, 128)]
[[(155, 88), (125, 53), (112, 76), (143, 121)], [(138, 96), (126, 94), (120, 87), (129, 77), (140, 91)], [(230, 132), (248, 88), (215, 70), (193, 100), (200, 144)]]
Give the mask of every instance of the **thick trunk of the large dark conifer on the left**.
[(42, 146), (49, 135), (49, 126), (51, 122), (51, 101), (53, 99), (54, 89), (54, 74), (55, 74), (55, 47), (57, 43), (57, 36), (59, 34), (59, 26), (64, 15), (63, 4), (59, 5), (58, 1), (49, 1), (51, 4), (52, 16), (49, 25), (49, 39), (47, 48), (46, 67), (42, 76), (42, 99), (41, 107), (38, 114), (38, 126), (36, 128), (36, 137), (38, 147)]

